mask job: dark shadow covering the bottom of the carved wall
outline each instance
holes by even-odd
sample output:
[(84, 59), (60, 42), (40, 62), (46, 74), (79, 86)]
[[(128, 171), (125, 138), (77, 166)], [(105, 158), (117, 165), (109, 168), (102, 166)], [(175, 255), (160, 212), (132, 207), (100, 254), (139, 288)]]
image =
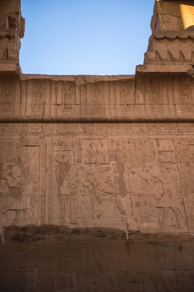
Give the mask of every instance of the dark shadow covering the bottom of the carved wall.
[(8, 227), (4, 236), (0, 291), (194, 292), (192, 239), (60, 226)]

